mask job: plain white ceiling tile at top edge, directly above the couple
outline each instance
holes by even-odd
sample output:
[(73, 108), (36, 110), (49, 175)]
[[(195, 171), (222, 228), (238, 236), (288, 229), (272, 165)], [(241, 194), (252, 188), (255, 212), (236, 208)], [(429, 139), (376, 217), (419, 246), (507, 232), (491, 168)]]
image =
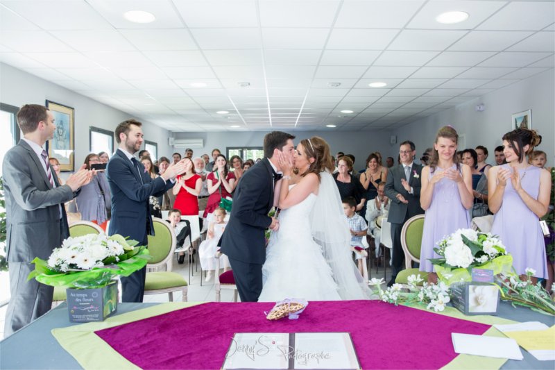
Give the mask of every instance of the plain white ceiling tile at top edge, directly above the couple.
[(340, 1), (265, 0), (259, 1), (262, 27), (332, 26)]

